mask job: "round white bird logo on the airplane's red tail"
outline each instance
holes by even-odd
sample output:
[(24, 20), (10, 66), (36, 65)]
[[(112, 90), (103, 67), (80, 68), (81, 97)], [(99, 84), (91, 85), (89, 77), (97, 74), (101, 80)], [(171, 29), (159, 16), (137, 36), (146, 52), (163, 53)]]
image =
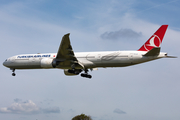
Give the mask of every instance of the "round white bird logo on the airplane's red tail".
[(161, 44), (161, 39), (157, 35), (153, 35), (150, 40), (144, 44), (144, 48), (149, 51), (154, 47), (159, 47)]

